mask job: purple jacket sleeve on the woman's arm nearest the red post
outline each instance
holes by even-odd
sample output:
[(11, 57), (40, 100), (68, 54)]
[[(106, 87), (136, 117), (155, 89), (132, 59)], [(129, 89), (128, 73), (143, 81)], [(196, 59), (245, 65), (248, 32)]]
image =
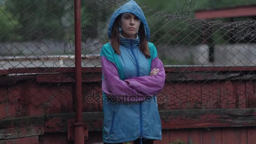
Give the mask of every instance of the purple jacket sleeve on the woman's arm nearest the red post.
[(125, 81), (120, 80), (116, 65), (104, 56), (101, 56), (101, 69), (104, 77), (102, 80), (102, 91), (104, 91), (107, 96), (111, 96), (118, 101), (144, 100), (142, 94), (128, 86)]

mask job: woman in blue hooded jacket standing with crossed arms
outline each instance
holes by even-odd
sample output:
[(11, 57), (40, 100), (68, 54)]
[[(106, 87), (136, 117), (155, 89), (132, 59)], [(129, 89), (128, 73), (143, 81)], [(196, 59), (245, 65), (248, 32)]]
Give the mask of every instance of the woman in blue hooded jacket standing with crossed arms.
[(110, 42), (101, 49), (104, 144), (153, 144), (162, 138), (156, 94), (164, 86), (165, 70), (149, 34), (135, 1), (113, 13)]

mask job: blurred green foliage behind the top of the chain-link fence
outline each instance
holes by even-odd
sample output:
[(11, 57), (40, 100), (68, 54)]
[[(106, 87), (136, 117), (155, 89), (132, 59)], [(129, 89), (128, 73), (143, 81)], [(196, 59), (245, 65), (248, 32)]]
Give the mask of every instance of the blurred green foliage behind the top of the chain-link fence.
[[(128, 0), (126, 0), (127, 2)], [(81, 1), (82, 39), (88, 37), (108, 40), (107, 27), (112, 13), (120, 3), (104, 0)], [(213, 9), (238, 5), (256, 4), (255, 0), (136, 0), (150, 9), (146, 12), (152, 33), (151, 41), (163, 45), (193, 45), (201, 42), (199, 23), (191, 24), (186, 19), (171, 17), (171, 14), (185, 14), (194, 17), (198, 9)], [(189, 11), (190, 10), (190, 11)], [(165, 15), (158, 12), (167, 12)], [(191, 12), (191, 14), (190, 14)], [(160, 15), (157, 15), (160, 14)], [(0, 41), (36, 41), (74, 38), (73, 0), (8, 0), (0, 5)], [(195, 26), (195, 27), (192, 27)], [(216, 43), (225, 43), (219, 30), (213, 34)]]

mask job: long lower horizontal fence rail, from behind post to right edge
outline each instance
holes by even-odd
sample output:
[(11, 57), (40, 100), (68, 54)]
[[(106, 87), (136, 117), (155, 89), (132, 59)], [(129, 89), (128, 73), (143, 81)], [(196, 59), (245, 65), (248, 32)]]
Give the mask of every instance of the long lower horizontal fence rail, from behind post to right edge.
[[(256, 109), (180, 109), (160, 111), (163, 129), (256, 126)], [(45, 115), (45, 132), (66, 132), (75, 113)], [(84, 112), (89, 131), (101, 131), (102, 112)]]

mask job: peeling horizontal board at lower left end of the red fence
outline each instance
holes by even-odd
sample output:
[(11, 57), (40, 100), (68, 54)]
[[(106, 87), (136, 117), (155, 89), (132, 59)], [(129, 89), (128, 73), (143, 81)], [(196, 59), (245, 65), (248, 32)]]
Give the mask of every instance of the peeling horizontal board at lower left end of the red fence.
[(44, 133), (44, 117), (27, 116), (0, 120), (0, 139), (38, 136)]

